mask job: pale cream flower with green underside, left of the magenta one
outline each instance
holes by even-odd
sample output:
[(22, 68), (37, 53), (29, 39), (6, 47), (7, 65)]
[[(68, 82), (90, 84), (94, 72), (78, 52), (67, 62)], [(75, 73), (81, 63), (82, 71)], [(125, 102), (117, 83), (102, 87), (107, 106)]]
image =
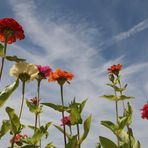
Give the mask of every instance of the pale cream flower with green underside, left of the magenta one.
[(38, 68), (31, 63), (19, 62), (10, 69), (10, 76), (15, 76), (23, 82), (34, 80), (39, 71)]

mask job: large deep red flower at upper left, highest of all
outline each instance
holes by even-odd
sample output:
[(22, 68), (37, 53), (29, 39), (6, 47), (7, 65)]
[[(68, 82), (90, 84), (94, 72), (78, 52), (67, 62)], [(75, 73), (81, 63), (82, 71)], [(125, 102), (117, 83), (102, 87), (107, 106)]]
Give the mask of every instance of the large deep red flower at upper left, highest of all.
[(22, 26), (12, 18), (0, 19), (0, 41), (5, 42), (6, 37), (8, 44), (25, 38)]

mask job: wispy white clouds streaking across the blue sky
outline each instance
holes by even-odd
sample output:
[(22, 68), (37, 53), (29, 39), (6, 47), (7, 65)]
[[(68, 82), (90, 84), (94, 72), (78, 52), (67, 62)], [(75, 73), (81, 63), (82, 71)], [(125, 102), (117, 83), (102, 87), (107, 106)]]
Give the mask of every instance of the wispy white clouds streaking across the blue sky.
[[(76, 96), (78, 100), (82, 100), (87, 97), (89, 98), (84, 116), (92, 113), (93, 123), (91, 133), (88, 137), (88, 139), (90, 140), (86, 141), (83, 147), (87, 147), (88, 144), (90, 145), (90, 147), (91, 145), (95, 145), (95, 143), (97, 142), (97, 137), (99, 135), (104, 135), (104, 131), (106, 136), (111, 136), (111, 134), (107, 130), (105, 130), (104, 128), (102, 129), (102, 126), (99, 126), (99, 121), (107, 118), (113, 118), (114, 105), (111, 106), (110, 102), (101, 99), (99, 100), (98, 98), (100, 95), (108, 91), (108, 89), (106, 89), (104, 86), (104, 84), (107, 82), (107, 67), (115, 63), (124, 63), (124, 56), (121, 56), (118, 59), (113, 59), (111, 61), (105, 60), (99, 54), (97, 47), (92, 46), (93, 41), (88, 36), (87, 31), (85, 31), (88, 29), (90, 32), (92, 31), (94, 33), (94, 30), (98, 31), (96, 28), (89, 28), (89, 26), (88, 28), (86, 28), (83, 23), (80, 23), (78, 24), (79, 27), (77, 27), (78, 30), (74, 31), (71, 29), (71, 22), (65, 24), (65, 22), (61, 21), (61, 24), (57, 24), (51, 21), (50, 18), (47, 19), (48, 17), (50, 17), (50, 12), (47, 16), (45, 16), (45, 18), (40, 18), (39, 14), (37, 13), (35, 1), (33, 0), (28, 0), (27, 2), (19, 0), (9, 0), (9, 2), (15, 17), (22, 23), (26, 32), (26, 36), (30, 39), (32, 43), (32, 46), (25, 45), (25, 47), (15, 44), (12, 47), (15, 49), (15, 53), (23, 58), (27, 58), (29, 61), (36, 64), (50, 64), (53, 68), (60, 66), (65, 70), (72, 71), (75, 74), (75, 79), (72, 81), (70, 86), (66, 86), (65, 98), (69, 100), (71, 100), (74, 96)], [(44, 20), (46, 21), (44, 22)], [(134, 27), (135, 29), (131, 29), (129, 33), (123, 33), (115, 37), (116, 41), (125, 39), (131, 34), (135, 34), (136, 32), (138, 32), (137, 30), (142, 30), (140, 28), (146, 28), (143, 27), (142, 24)], [(85, 27), (83, 27), (83, 25)], [(83, 32), (83, 38), (81, 32)], [(101, 34), (101, 32), (99, 31), (96, 33)], [(102, 42), (101, 38), (99, 38), (99, 40), (100, 42)], [(42, 56), (40, 56), (35, 51), (34, 53), (31, 53), (31, 49), (34, 49), (35, 47), (37, 47), (36, 50), (43, 50), (45, 54), (42, 54)], [(9, 51), (9, 53), (13, 54), (13, 51)], [(7, 66), (7, 68), (10, 67), (10, 64), (8, 65), (9, 66)], [(131, 75), (132, 77), (134, 77), (135, 74), (139, 73), (139, 71), (147, 67), (147, 63), (131, 65), (127, 69), (123, 70), (123, 74), (126, 76)], [(10, 82), (11, 80), (7, 80), (7, 68), (5, 68), (5, 82)], [(132, 89), (130, 90), (130, 92), (134, 93), (136, 87), (131, 81), (130, 83), (130, 85), (132, 85)], [(27, 85), (26, 91), (28, 92), (26, 94), (26, 97), (30, 98), (32, 97), (32, 95), (35, 95), (36, 88), (32, 89), (33, 87), (36, 87), (35, 82)], [(15, 98), (12, 97), (13, 99), (10, 99), (6, 105), (12, 105), (18, 111), (19, 108), (17, 107), (16, 100), (20, 96), (21, 94), (17, 93)], [(137, 96), (140, 95), (138, 94)], [(43, 82), (41, 98), (43, 98), (43, 100), (46, 100), (46, 98), (50, 98), (49, 101), (59, 103), (59, 89), (57, 88), (57, 85), (47, 84), (47, 82)], [(66, 100), (65, 102), (68, 103), (69, 100)], [(4, 113), (3, 108), (3, 111), (1, 112), (1, 117), (5, 116), (7, 115), (6, 113)], [(30, 116), (30, 113), (27, 111), (27, 109), (25, 109), (25, 114), (23, 116), (23, 122), (28, 124), (30, 123), (30, 121), (32, 121), (32, 117)], [(52, 110), (45, 109), (42, 120), (52, 120), (58, 123), (59, 118), (59, 114), (55, 113)], [(139, 124), (139, 122), (137, 121), (135, 124), (137, 125)], [(53, 140), (58, 147), (60, 147), (61, 143), (63, 142), (61, 140), (61, 135), (57, 134), (57, 131), (54, 128), (51, 128), (51, 130), (49, 131), (51, 132), (50, 139)], [(144, 135), (144, 133), (141, 132), (141, 135)]]

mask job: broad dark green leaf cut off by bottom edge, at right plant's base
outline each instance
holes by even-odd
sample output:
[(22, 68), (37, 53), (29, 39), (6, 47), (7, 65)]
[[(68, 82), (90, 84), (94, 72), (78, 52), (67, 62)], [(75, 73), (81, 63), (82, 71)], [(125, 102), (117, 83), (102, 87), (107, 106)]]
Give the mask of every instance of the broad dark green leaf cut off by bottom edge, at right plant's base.
[(108, 138), (100, 136), (99, 139), (103, 148), (118, 148), (118, 146)]

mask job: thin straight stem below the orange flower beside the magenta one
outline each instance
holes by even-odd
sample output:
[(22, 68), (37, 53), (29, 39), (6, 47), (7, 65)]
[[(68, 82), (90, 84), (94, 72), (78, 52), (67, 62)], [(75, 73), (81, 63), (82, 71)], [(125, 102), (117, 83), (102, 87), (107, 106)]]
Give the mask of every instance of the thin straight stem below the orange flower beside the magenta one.
[[(60, 89), (61, 89), (61, 102), (62, 102), (62, 106), (64, 108), (63, 85), (60, 85)], [(64, 120), (64, 110), (62, 110), (62, 119)], [(65, 128), (65, 124), (63, 124), (63, 130), (64, 130), (64, 144), (65, 144), (65, 147), (66, 147), (66, 128)]]

